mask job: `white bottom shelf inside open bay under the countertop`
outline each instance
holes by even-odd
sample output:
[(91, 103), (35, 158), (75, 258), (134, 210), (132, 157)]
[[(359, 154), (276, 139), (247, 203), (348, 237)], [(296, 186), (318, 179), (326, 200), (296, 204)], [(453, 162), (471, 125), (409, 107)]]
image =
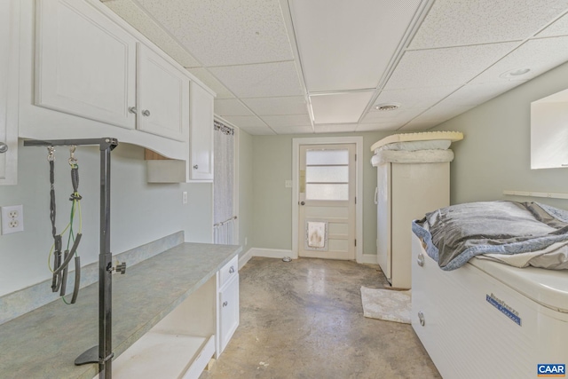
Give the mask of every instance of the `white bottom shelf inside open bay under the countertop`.
[[(150, 331), (114, 360), (113, 377), (117, 379), (182, 377), (193, 361), (197, 363), (200, 360), (197, 356), (201, 351), (203, 356), (207, 356), (209, 345), (212, 344), (215, 349), (212, 343), (214, 340), (214, 336), (205, 338)], [(212, 353), (204, 359), (205, 365), (211, 356)]]

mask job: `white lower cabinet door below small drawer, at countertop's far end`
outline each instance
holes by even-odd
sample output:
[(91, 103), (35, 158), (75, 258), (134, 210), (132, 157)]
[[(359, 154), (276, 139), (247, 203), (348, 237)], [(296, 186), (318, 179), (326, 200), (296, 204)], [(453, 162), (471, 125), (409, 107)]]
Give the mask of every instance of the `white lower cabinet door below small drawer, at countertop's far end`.
[(219, 346), (217, 357), (225, 350), (239, 326), (239, 275), (235, 275), (219, 292)]

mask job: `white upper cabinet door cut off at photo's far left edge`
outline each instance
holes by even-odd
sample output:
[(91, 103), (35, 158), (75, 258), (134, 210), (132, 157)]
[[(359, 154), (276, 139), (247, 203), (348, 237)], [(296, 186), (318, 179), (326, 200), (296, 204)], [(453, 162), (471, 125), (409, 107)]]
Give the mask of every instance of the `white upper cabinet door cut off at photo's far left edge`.
[(18, 166), (20, 0), (0, 2), (0, 185), (15, 185)]

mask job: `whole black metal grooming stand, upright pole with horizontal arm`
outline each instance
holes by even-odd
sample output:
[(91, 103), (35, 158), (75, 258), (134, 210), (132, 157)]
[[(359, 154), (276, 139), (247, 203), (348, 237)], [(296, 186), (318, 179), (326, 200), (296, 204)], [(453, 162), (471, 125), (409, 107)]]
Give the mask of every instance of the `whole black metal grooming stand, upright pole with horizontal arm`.
[[(100, 149), (100, 246), (99, 246), (99, 345), (84, 351), (75, 365), (99, 364), (99, 378), (112, 379), (112, 271), (110, 251), (110, 153), (116, 138), (54, 139), (24, 141), (24, 146), (93, 146)], [(125, 269), (122, 266), (122, 273)]]

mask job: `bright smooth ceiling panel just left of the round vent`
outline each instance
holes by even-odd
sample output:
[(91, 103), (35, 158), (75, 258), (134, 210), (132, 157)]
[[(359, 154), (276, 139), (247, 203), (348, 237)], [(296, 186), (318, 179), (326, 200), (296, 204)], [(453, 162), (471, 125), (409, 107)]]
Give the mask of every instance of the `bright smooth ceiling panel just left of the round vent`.
[(311, 96), (314, 123), (358, 122), (373, 91)]

